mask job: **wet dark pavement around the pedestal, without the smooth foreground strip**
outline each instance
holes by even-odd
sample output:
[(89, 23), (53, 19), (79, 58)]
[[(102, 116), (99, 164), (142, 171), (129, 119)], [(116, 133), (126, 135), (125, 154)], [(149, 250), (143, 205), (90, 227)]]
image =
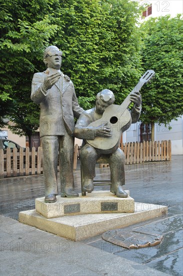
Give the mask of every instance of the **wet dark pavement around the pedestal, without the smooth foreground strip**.
[[(109, 178), (109, 168), (96, 168), (96, 178)], [(109, 252), (121, 257), (121, 260), (124, 258), (155, 268), (159, 273), (162, 271), (170, 275), (182, 275), (182, 156), (172, 156), (171, 162), (125, 166), (125, 178), (125, 189), (129, 189), (135, 202), (166, 205), (168, 213), (124, 229), (163, 235), (162, 242), (154, 247), (125, 249), (104, 241), (98, 235), (79, 243), (98, 248), (101, 252)], [(80, 193), (79, 162), (74, 172), (74, 185), (75, 191)], [(96, 186), (95, 190), (108, 190), (108, 186)], [(34, 209), (34, 199), (42, 196), (42, 175), (0, 180), (3, 216), (17, 219), (20, 211)]]

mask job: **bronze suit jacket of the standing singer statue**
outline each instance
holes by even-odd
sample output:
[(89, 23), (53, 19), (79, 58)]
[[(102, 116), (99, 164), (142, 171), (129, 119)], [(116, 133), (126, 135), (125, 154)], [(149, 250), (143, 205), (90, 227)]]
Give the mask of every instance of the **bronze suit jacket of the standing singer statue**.
[(40, 137), (45, 135), (64, 135), (65, 130), (73, 133), (74, 117), (78, 118), (83, 109), (78, 105), (73, 83), (63, 75), (46, 93), (42, 90), (45, 76), (55, 73), (47, 69), (35, 73), (32, 79), (30, 98), (40, 104)]

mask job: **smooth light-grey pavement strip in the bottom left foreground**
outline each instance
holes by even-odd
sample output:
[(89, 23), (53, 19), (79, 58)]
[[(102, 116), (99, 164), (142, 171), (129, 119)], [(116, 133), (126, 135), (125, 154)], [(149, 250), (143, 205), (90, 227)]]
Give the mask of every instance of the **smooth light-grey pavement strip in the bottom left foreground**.
[(146, 265), (0, 216), (0, 275), (167, 276)]

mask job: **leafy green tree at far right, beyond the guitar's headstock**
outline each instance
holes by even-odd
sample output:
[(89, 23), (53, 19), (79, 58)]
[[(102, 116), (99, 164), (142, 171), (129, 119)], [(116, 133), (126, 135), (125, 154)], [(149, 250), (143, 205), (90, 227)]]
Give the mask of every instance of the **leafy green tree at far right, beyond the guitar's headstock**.
[(150, 18), (141, 26), (145, 33), (143, 68), (153, 69), (155, 78), (142, 88), (142, 114), (144, 123), (168, 125), (183, 113), (183, 24), (180, 15)]

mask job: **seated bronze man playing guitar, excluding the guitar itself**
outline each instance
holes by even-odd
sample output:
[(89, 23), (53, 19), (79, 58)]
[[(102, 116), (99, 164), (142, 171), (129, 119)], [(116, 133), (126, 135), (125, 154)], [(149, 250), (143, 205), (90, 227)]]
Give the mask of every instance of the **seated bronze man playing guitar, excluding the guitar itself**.
[[(83, 176), (82, 192), (92, 192), (93, 190), (93, 178), (95, 177), (95, 164), (96, 160), (102, 156), (108, 159), (110, 167), (111, 177), (111, 193), (117, 197), (127, 197), (127, 193), (122, 189), (122, 185), (125, 184), (124, 177), (124, 164), (125, 157), (123, 151), (118, 148), (118, 144), (115, 149), (112, 149), (110, 153), (104, 153), (103, 150), (96, 149), (89, 145), (86, 140), (94, 140), (96, 136), (110, 137), (111, 129), (107, 123), (103, 122), (99, 126), (89, 126), (91, 122), (94, 122), (102, 117), (102, 114), (106, 107), (114, 102), (114, 94), (112, 91), (105, 89), (96, 95), (96, 105), (94, 108), (84, 111), (76, 122), (74, 129), (74, 136), (79, 139), (84, 139), (80, 151), (81, 170)], [(134, 103), (134, 106), (130, 113), (130, 120), (125, 124), (121, 131), (128, 129), (131, 123), (137, 122), (141, 111), (141, 95), (139, 92), (134, 92), (130, 95), (130, 100)], [(129, 112), (129, 111), (128, 111)], [(120, 131), (120, 130), (118, 130)], [(102, 144), (102, 139), (101, 139)]]

